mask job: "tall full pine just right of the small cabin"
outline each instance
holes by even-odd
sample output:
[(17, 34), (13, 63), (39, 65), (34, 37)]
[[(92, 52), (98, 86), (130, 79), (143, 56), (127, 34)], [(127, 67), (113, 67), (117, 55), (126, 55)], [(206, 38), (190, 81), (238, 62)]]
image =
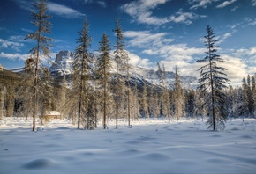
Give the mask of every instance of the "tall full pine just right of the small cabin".
[[(73, 94), (78, 95), (78, 129), (80, 128), (81, 121), (84, 120), (85, 122), (87, 120), (86, 116), (89, 102), (89, 91), (92, 90), (89, 84), (89, 80), (91, 80), (90, 63), (92, 62), (92, 55), (89, 52), (89, 47), (92, 39), (89, 36), (87, 18), (85, 18), (82, 27), (82, 30), (79, 32), (79, 39), (77, 40), (79, 46), (75, 50), (73, 62), (74, 78), (72, 87)], [(84, 118), (81, 118), (82, 115), (84, 115)]]

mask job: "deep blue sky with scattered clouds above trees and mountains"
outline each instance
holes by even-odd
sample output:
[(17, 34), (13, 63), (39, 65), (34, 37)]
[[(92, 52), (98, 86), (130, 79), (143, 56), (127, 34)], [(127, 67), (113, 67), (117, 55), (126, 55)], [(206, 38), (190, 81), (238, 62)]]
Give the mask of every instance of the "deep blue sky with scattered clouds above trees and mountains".
[[(35, 28), (29, 17), (31, 0), (0, 2), (0, 64), (5, 69), (22, 67), (34, 46), (24, 40)], [(61, 50), (73, 51), (78, 32), (87, 16), (93, 42), (98, 49), (102, 34), (115, 45), (115, 19), (121, 19), (131, 64), (156, 69), (175, 66), (182, 76), (198, 76), (205, 56), (202, 41), (210, 25), (220, 39), (218, 54), (226, 61), (232, 84), (256, 73), (256, 0), (50, 0), (49, 20), (55, 40), (52, 57)], [(113, 48), (114, 49), (114, 48)]]

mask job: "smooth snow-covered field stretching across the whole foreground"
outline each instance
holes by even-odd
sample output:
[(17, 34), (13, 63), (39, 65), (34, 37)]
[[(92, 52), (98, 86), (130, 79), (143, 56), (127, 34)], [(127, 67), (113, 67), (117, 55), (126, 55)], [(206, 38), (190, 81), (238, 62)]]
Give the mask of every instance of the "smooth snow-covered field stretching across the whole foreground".
[(67, 120), (32, 132), (32, 120), (0, 121), (1, 174), (256, 173), (256, 120), (223, 132), (200, 120), (120, 122), (77, 130)]

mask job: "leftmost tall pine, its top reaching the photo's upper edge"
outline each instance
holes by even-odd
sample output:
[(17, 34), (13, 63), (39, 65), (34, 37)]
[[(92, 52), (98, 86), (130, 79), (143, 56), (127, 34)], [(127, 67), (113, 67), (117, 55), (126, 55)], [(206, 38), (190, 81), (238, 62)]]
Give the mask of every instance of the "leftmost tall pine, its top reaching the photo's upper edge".
[(39, 66), (40, 66), (40, 56), (44, 55), (49, 57), (49, 44), (52, 39), (43, 36), (43, 33), (50, 33), (50, 16), (47, 12), (47, 0), (38, 0), (35, 1), (34, 10), (31, 11), (31, 22), (37, 27), (34, 33), (26, 35), (26, 39), (32, 39), (36, 41), (36, 46), (32, 48), (31, 52), (34, 55), (34, 101), (33, 101), (33, 131), (35, 131), (35, 115), (37, 114), (38, 107), (38, 79), (39, 79)]

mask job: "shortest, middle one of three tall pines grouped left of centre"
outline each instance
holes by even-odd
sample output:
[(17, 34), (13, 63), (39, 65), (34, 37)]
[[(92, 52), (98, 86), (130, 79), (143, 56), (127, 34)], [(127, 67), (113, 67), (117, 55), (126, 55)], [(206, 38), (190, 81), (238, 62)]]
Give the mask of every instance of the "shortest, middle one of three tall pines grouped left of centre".
[(112, 61), (110, 57), (110, 41), (106, 33), (103, 34), (100, 41), (99, 57), (96, 62), (97, 81), (99, 89), (102, 90), (100, 103), (103, 110), (103, 128), (107, 128), (107, 116), (109, 115), (108, 108), (111, 106), (110, 95), (110, 70), (112, 69)]

